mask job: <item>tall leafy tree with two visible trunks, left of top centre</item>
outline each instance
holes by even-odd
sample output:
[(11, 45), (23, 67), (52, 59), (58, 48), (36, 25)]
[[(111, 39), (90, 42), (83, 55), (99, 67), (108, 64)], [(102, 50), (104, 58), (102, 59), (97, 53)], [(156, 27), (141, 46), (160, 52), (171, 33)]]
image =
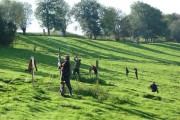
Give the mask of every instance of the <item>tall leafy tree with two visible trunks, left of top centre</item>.
[(69, 23), (69, 5), (64, 0), (38, 0), (36, 8), (36, 18), (41, 21), (41, 26), (48, 29), (55, 28), (61, 30), (65, 35)]

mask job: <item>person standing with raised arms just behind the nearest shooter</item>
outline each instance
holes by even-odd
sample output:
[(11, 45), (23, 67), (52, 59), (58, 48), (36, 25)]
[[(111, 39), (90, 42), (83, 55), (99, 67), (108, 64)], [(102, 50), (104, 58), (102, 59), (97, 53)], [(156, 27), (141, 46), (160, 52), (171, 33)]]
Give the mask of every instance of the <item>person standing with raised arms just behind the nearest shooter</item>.
[(80, 77), (80, 73), (79, 73), (79, 68), (80, 68), (80, 65), (81, 65), (81, 59), (78, 59), (78, 57), (74, 57), (74, 70), (73, 70), (73, 76), (75, 76), (75, 74), (77, 73), (78, 74), (78, 78)]

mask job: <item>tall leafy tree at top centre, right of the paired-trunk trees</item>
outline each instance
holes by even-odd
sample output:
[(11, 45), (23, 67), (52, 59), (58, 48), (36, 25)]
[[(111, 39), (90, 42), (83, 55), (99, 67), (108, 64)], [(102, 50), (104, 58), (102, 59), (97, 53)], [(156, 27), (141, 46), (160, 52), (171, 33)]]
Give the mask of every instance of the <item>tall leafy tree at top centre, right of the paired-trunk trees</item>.
[(100, 9), (96, 0), (81, 0), (72, 9), (75, 20), (90, 38), (96, 39), (101, 34)]

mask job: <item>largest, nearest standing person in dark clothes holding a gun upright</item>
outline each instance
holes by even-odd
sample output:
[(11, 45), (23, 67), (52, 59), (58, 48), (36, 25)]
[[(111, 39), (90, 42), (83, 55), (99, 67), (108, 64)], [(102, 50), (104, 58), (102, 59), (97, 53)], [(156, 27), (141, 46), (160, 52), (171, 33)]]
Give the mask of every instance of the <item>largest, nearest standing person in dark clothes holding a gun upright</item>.
[(69, 89), (70, 97), (72, 96), (72, 87), (70, 83), (70, 75), (71, 75), (71, 69), (70, 69), (70, 57), (68, 55), (65, 55), (65, 61), (61, 64), (61, 95), (64, 95), (64, 84)]

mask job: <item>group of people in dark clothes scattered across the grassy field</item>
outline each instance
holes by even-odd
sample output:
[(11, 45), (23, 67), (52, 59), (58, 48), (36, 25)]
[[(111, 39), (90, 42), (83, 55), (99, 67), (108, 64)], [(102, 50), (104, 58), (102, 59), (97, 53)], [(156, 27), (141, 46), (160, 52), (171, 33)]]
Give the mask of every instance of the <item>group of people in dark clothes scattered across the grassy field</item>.
[[(75, 76), (75, 74), (78, 75), (78, 78), (80, 77), (80, 65), (81, 65), (81, 59), (79, 59), (77, 56), (74, 57), (74, 61), (75, 61), (75, 64), (74, 64), (74, 69), (73, 69), (73, 75)], [(36, 66), (36, 61), (34, 59), (34, 66), (35, 66), (35, 69), (37, 71), (37, 66)], [(64, 57), (64, 62), (63, 63), (60, 63), (58, 62), (58, 68), (61, 70), (61, 78), (60, 78), (60, 93), (62, 96), (65, 95), (64, 93), (64, 87), (65, 87), (65, 84), (66, 86), (68, 87), (69, 89), (69, 95), (70, 97), (72, 96), (72, 86), (71, 86), (71, 83), (70, 83), (70, 76), (71, 76), (71, 67), (70, 67), (70, 56), (69, 55), (65, 55)], [(25, 70), (25, 71), (29, 71), (29, 72), (32, 72), (32, 58), (30, 59), (29, 61), (29, 65), (28, 65), (28, 70)], [(91, 76), (91, 71), (94, 71), (94, 74), (95, 74), (95, 77), (97, 78), (98, 77), (98, 70), (97, 70), (97, 67), (94, 66), (94, 65), (91, 65), (89, 67), (89, 74)], [(134, 67), (134, 71), (135, 71), (135, 76), (136, 76), (136, 79), (138, 79), (138, 71), (137, 71), (137, 68)], [(126, 76), (128, 76), (129, 74), (129, 70), (128, 68), (126, 67)], [(152, 92), (157, 92), (159, 93), (158, 91), (158, 88), (157, 88), (157, 85), (155, 82), (153, 82), (150, 87), (149, 87)]]

